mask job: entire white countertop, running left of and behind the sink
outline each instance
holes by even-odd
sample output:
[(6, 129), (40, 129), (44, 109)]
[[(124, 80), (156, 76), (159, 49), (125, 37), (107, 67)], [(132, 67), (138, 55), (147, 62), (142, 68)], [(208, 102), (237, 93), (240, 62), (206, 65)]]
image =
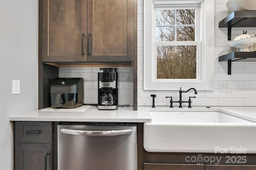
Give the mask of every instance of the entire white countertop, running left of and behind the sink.
[[(71, 110), (71, 109), (70, 109)], [(120, 107), (118, 110), (98, 110), (91, 107), (84, 112), (51, 112), (51, 111), (28, 111), (17, 115), (11, 115), (9, 121), (69, 121), (69, 122), (151, 122), (148, 110), (154, 111), (220, 111), (236, 117), (256, 122), (256, 107), (193, 107), (193, 108), (169, 108), (162, 106), (152, 108), (150, 106), (139, 106), (138, 111), (132, 107)]]

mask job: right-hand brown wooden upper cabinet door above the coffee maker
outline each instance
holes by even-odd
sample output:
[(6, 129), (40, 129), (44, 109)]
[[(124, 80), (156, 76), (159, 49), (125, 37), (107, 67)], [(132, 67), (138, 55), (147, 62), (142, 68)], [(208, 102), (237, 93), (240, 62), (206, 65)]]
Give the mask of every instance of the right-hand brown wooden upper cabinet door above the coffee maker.
[(134, 3), (134, 0), (87, 1), (88, 62), (133, 60)]

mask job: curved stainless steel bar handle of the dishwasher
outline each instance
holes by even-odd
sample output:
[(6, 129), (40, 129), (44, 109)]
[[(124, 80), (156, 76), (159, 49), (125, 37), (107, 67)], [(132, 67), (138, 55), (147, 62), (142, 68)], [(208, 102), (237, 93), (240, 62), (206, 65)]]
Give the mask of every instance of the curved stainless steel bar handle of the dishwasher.
[(133, 132), (132, 129), (91, 131), (91, 130), (73, 130), (73, 129), (66, 129), (66, 128), (62, 128), (60, 131), (65, 134), (84, 135), (84, 136), (121, 136), (125, 134), (131, 134)]

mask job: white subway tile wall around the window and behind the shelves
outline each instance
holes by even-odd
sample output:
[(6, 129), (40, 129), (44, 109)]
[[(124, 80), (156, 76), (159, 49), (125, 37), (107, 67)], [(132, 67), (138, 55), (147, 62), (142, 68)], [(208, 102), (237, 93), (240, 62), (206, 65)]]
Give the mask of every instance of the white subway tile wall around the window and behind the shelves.
[[(228, 47), (227, 28), (218, 28), (218, 22), (228, 16), (226, 8), (228, 0), (215, 0), (215, 90), (185, 93), (183, 100), (188, 96), (196, 96), (192, 99), (194, 106), (256, 106), (256, 63), (232, 63), (232, 75), (228, 75), (227, 62), (218, 62), (218, 57), (230, 52)], [(232, 39), (247, 30), (247, 34), (256, 35), (256, 28), (232, 28)], [(152, 105), (150, 94), (156, 94), (156, 105), (168, 106), (170, 99), (165, 96), (173, 96), (178, 100), (177, 91), (144, 91), (143, 90), (143, 0), (138, 0), (138, 105)], [(231, 92), (220, 92), (221, 81), (230, 81)], [(187, 89), (183, 89), (187, 90)], [(178, 105), (178, 103), (175, 103)], [(183, 105), (186, 105), (183, 104)]]

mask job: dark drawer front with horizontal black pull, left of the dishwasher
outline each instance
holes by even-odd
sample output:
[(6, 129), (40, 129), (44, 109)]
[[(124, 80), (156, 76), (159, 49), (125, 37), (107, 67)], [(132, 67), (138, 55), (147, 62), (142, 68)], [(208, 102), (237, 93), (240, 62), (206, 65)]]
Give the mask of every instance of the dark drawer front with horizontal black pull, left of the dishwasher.
[(52, 143), (52, 122), (15, 122), (15, 143)]

